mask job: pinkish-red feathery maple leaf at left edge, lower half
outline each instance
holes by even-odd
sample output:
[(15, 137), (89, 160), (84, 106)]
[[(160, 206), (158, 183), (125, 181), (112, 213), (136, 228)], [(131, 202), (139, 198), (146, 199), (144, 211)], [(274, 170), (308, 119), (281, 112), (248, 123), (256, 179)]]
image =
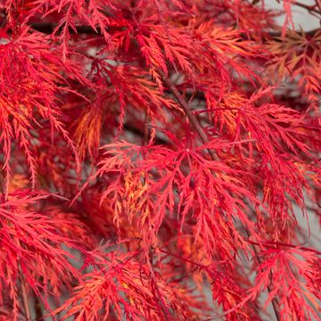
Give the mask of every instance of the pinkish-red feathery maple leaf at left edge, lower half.
[(10, 293), (13, 302), (13, 319), (18, 319), (17, 282), (23, 273), (28, 291), (35, 292), (49, 308), (48, 295), (57, 299), (62, 289), (69, 287), (74, 277), (79, 277), (70, 259), (72, 255), (63, 246), (75, 247), (76, 243), (63, 236), (61, 218), (50, 218), (32, 210), (49, 195), (16, 191), (9, 194), (0, 205), (1, 224), (1, 288)]

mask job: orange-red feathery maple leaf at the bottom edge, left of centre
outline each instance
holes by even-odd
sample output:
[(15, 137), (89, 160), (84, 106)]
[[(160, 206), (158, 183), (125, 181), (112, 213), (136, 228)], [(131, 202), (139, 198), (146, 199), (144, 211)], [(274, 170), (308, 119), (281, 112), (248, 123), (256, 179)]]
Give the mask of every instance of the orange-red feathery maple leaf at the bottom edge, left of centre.
[[(96, 320), (100, 312), (103, 312), (104, 319), (111, 315), (128, 320), (140, 320), (142, 317), (162, 320), (170, 310), (173, 319), (190, 319), (193, 311), (180, 300), (181, 295), (188, 296), (188, 292), (179, 293), (148, 264), (134, 261), (137, 255), (139, 252), (111, 252), (99, 256), (98, 269), (86, 274), (84, 283), (54, 313), (66, 309), (67, 314), (62, 320), (71, 316), (75, 316), (75, 320)], [(94, 264), (95, 259), (94, 255)]]

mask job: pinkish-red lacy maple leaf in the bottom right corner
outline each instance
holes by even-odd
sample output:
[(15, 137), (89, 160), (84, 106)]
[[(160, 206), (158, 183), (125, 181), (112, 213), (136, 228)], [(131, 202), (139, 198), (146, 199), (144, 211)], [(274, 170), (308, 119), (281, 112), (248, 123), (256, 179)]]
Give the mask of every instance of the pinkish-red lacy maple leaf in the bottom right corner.
[(255, 296), (261, 287), (267, 288), (272, 284), (265, 307), (276, 296), (282, 319), (317, 319), (321, 295), (320, 271), (317, 268), (319, 255), (314, 251), (293, 247), (270, 248), (262, 251), (259, 257), (262, 263), (257, 268), (255, 288), (251, 289), (249, 295)]

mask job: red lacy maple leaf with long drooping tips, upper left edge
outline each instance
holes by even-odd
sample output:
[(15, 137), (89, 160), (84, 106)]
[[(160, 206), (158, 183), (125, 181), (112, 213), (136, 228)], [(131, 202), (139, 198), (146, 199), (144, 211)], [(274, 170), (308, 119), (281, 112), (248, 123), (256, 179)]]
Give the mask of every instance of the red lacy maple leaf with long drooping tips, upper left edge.
[(10, 181), (13, 140), (25, 153), (31, 184), (35, 187), (37, 162), (31, 142), (38, 140), (33, 135), (33, 128), (41, 127), (44, 120), (50, 123), (52, 132), (59, 132), (68, 142), (77, 160), (74, 144), (62, 125), (56, 95), (64, 90), (62, 85), (68, 85), (62, 77), (62, 71), (74, 72), (76, 76), (77, 73), (80, 75), (80, 70), (72, 62), (62, 64), (59, 51), (53, 52), (49, 45), (43, 45), (46, 40), (41, 34), (30, 34), (29, 29), (23, 29), (20, 37), (0, 45), (0, 141), (4, 146), (6, 193)]

